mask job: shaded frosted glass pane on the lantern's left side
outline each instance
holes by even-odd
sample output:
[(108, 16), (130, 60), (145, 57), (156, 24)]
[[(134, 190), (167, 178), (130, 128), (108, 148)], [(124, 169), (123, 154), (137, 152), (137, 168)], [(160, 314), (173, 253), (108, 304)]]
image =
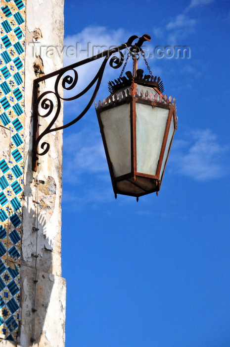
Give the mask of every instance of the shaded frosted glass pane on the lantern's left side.
[(101, 121), (114, 176), (131, 172), (130, 104), (102, 111)]

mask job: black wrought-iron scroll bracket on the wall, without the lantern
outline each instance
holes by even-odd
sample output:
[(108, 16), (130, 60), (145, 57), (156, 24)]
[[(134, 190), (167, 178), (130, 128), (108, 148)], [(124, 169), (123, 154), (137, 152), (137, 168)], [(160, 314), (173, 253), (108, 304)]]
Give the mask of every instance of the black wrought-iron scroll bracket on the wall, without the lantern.
[[(138, 39), (137, 43), (133, 42)], [(98, 92), (98, 89), (100, 87), (100, 83), (102, 80), (102, 76), (104, 73), (104, 69), (106, 66), (107, 61), (109, 60), (109, 65), (113, 68), (119, 68), (122, 66), (124, 62), (124, 55), (122, 53), (122, 50), (128, 49), (129, 51), (132, 51), (132, 48), (140, 48), (144, 41), (150, 41), (151, 37), (147, 34), (144, 34), (141, 37), (138, 37), (137, 35), (133, 35), (129, 38), (129, 40), (115, 48), (112, 48), (107, 51), (103, 51), (98, 55), (92, 56), (90, 58), (81, 60), (79, 62), (76, 62), (74, 64), (71, 64), (69, 66), (63, 67), (57, 71), (54, 71), (52, 73), (49, 73), (47, 75), (41, 76), (39, 78), (36, 78), (34, 80), (34, 89), (33, 89), (33, 156), (32, 156), (32, 170), (37, 171), (37, 164), (38, 164), (38, 155), (43, 156), (45, 155), (50, 145), (48, 142), (44, 141), (41, 144), (42, 151), (39, 151), (39, 145), (42, 138), (53, 131), (61, 130), (64, 128), (67, 128), (74, 123), (76, 123), (78, 120), (80, 120), (90, 109), (92, 106), (93, 101), (95, 100), (96, 94)], [(119, 53), (120, 57), (114, 56), (115, 53)], [(60, 88), (60, 85), (62, 89), (64, 90), (71, 90), (73, 89), (78, 82), (78, 72), (76, 70), (77, 67), (81, 65), (85, 65), (91, 61), (94, 61), (99, 58), (104, 58), (101, 66), (99, 67), (96, 75), (93, 77), (92, 81), (88, 84), (88, 86), (82, 90), (80, 93), (78, 93), (75, 96), (72, 96), (70, 98), (64, 98), (59, 94), (58, 89)], [(70, 72), (72, 71), (73, 76), (70, 75)], [(67, 75), (64, 76), (64, 74), (67, 73)], [(54, 83), (54, 91), (45, 91), (42, 94), (39, 94), (40, 89), (40, 82), (46, 81), (49, 78), (56, 77), (55, 83)], [(55, 124), (55, 121), (57, 120), (60, 110), (61, 110), (61, 100), (63, 101), (71, 101), (76, 100), (83, 96), (85, 93), (87, 93), (92, 86), (95, 84), (94, 90), (92, 92), (92, 97), (90, 98), (90, 101), (88, 102), (85, 109), (80, 113), (79, 116), (77, 116), (72, 121), (68, 122), (67, 124), (64, 124), (62, 126), (53, 127)], [(56, 105), (54, 107), (54, 102), (51, 99), (51, 96), (54, 97), (56, 101)], [(55, 111), (54, 111), (55, 110)], [(41, 114), (41, 111), (43, 111), (43, 114)], [(46, 126), (46, 129), (39, 134), (39, 117), (45, 118), (50, 116), (54, 112), (54, 116), (50, 123)]]

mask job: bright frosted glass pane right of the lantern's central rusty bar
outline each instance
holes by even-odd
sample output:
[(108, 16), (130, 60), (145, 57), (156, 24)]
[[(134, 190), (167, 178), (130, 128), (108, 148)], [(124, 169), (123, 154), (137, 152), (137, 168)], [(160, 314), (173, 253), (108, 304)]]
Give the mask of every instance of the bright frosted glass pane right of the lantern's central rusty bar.
[(136, 103), (137, 171), (156, 174), (169, 109)]

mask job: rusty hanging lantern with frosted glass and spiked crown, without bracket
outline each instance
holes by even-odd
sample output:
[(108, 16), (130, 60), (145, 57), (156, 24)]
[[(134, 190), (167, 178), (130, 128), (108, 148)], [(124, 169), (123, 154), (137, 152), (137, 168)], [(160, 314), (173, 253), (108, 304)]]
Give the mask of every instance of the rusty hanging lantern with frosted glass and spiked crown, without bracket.
[(177, 128), (175, 99), (160, 78), (126, 72), (109, 82), (110, 96), (96, 106), (115, 197), (160, 190)]

